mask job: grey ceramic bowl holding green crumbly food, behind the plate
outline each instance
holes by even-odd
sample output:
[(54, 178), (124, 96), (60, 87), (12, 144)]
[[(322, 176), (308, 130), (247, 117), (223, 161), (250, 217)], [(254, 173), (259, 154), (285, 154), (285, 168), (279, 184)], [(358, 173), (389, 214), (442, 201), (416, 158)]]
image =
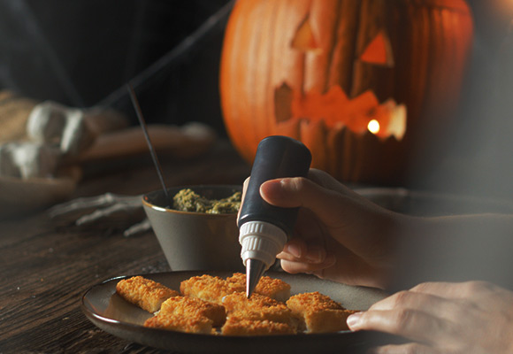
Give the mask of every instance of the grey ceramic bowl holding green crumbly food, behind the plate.
[[(181, 186), (168, 189), (172, 198), (180, 189), (200, 196), (221, 199), (241, 191), (241, 186)], [(172, 271), (242, 271), (237, 214), (180, 212), (167, 208), (164, 190), (142, 196), (149, 223)]]

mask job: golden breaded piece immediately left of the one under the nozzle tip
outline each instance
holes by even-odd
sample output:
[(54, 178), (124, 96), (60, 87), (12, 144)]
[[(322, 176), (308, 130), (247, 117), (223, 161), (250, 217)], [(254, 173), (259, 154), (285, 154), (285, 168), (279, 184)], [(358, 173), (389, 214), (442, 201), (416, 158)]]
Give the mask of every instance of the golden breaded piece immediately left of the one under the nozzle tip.
[(222, 326), (226, 319), (224, 306), (186, 296), (174, 296), (165, 300), (158, 315), (176, 315), (184, 318), (203, 316), (211, 319), (214, 327)]

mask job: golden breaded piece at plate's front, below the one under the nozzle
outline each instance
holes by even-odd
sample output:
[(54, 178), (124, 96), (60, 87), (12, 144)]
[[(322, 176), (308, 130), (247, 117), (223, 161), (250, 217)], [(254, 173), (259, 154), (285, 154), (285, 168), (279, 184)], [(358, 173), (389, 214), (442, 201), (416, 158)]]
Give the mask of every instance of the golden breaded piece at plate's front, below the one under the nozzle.
[(222, 335), (295, 335), (295, 327), (287, 323), (272, 322), (270, 320), (226, 319), (221, 327)]

